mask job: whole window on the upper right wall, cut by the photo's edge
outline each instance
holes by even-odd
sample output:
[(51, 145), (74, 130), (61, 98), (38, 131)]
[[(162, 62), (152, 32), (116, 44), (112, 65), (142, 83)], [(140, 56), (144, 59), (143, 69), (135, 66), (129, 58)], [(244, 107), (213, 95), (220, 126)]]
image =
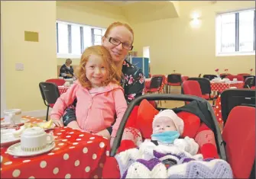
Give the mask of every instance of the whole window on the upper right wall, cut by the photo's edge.
[(255, 54), (255, 10), (219, 14), (216, 18), (216, 55)]

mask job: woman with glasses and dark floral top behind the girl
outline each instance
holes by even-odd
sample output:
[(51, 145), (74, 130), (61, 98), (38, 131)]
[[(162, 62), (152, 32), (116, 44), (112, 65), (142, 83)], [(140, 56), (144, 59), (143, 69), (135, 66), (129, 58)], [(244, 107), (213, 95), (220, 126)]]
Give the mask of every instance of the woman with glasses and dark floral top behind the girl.
[[(125, 60), (128, 51), (133, 49), (134, 32), (128, 24), (115, 22), (111, 24), (102, 37), (102, 45), (105, 46), (115, 62), (117, 69), (122, 72), (122, 87), (125, 90), (125, 100), (129, 104), (135, 97), (141, 96), (144, 90), (144, 75), (141, 69)], [(63, 123), (57, 126), (69, 126), (73, 128), (76, 120), (76, 100), (68, 107), (63, 115)], [(112, 133), (112, 128), (109, 128)]]

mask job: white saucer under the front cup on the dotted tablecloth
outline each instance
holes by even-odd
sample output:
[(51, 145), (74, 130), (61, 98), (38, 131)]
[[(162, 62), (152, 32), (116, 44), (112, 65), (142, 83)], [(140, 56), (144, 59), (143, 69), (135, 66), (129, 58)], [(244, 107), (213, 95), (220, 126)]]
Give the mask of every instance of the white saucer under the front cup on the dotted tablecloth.
[(24, 152), (23, 150), (21, 150), (21, 142), (18, 142), (16, 144), (11, 145), (10, 147), (8, 147), (6, 152), (9, 155), (14, 155), (14, 156), (18, 156), (18, 157), (28, 157), (28, 156), (44, 154), (45, 152), (49, 152), (50, 150), (52, 150), (54, 147), (55, 147), (55, 142), (52, 142), (52, 143), (48, 144), (46, 146), (46, 148), (44, 148), (40, 151)]

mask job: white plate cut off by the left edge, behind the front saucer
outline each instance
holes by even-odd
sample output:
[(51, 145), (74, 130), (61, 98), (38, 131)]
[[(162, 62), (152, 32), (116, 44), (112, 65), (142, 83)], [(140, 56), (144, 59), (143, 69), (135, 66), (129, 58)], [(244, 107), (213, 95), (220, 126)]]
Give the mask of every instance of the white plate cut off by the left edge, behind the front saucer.
[(20, 137), (13, 136), (13, 131), (15, 129), (1, 129), (1, 146), (11, 145), (13, 143), (19, 142)]

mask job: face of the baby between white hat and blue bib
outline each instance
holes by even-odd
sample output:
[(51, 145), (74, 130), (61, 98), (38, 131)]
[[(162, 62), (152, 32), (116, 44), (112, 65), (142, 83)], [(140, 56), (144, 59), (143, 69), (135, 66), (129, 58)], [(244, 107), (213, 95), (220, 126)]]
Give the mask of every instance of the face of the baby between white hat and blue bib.
[(167, 131), (177, 131), (173, 120), (168, 117), (159, 117), (153, 126), (153, 133), (164, 133)]

